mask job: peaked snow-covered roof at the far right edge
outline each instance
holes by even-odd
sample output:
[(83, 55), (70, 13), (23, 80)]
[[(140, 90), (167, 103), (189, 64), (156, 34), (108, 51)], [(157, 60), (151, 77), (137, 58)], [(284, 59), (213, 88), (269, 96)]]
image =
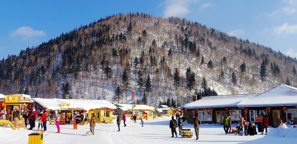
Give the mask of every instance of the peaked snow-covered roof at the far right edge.
[(258, 96), (250, 97), (238, 103), (238, 107), (254, 106), (296, 106), (297, 88), (279, 85)]

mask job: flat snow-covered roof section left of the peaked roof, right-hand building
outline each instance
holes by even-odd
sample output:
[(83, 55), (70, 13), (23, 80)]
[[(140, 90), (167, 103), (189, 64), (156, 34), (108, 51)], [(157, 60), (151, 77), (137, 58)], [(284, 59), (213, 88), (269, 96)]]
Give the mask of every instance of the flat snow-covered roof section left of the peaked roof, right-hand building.
[(228, 96), (205, 96), (197, 101), (183, 105), (181, 108), (215, 108), (215, 107), (237, 107), (237, 104), (244, 99), (259, 94), (228, 95)]

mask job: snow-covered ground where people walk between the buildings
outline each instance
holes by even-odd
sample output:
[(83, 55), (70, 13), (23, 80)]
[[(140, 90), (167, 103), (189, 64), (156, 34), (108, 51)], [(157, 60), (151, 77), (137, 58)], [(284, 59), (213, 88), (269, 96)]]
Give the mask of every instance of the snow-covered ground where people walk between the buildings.
[[(195, 140), (195, 131), (192, 125), (184, 124), (185, 129), (191, 129), (194, 133), (192, 138), (171, 138), (169, 129), (170, 118), (159, 118), (145, 121), (141, 127), (140, 121), (126, 121), (127, 127), (121, 131), (113, 124), (97, 124), (94, 136), (86, 136), (90, 131), (89, 125), (78, 125), (73, 130), (73, 125), (60, 125), (61, 133), (56, 134), (55, 125), (48, 125), (44, 133), (44, 144), (296, 144), (297, 128), (268, 128), (268, 135), (238, 136), (234, 134), (225, 135), (222, 125), (202, 124), (200, 125), (199, 140)], [(38, 124), (36, 123), (36, 126)], [(233, 124), (232, 127), (236, 127)], [(29, 126), (28, 126), (29, 127)], [(28, 144), (28, 134), (36, 130), (12, 130), (0, 127), (0, 144)], [(177, 130), (178, 133), (178, 130)]]

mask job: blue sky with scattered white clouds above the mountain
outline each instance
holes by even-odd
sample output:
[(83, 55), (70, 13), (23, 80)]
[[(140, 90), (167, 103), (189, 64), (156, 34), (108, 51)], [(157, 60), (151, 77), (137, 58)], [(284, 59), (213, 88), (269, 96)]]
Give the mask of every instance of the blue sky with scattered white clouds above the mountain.
[(1, 0), (0, 59), (129, 12), (186, 18), (297, 57), (297, 0)]

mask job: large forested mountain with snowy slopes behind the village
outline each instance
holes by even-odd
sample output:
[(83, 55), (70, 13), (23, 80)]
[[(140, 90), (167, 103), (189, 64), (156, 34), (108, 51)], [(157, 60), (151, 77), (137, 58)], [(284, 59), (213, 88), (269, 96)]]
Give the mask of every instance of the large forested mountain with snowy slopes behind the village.
[(154, 106), (297, 87), (297, 59), (198, 22), (107, 16), (0, 61), (0, 93)]

